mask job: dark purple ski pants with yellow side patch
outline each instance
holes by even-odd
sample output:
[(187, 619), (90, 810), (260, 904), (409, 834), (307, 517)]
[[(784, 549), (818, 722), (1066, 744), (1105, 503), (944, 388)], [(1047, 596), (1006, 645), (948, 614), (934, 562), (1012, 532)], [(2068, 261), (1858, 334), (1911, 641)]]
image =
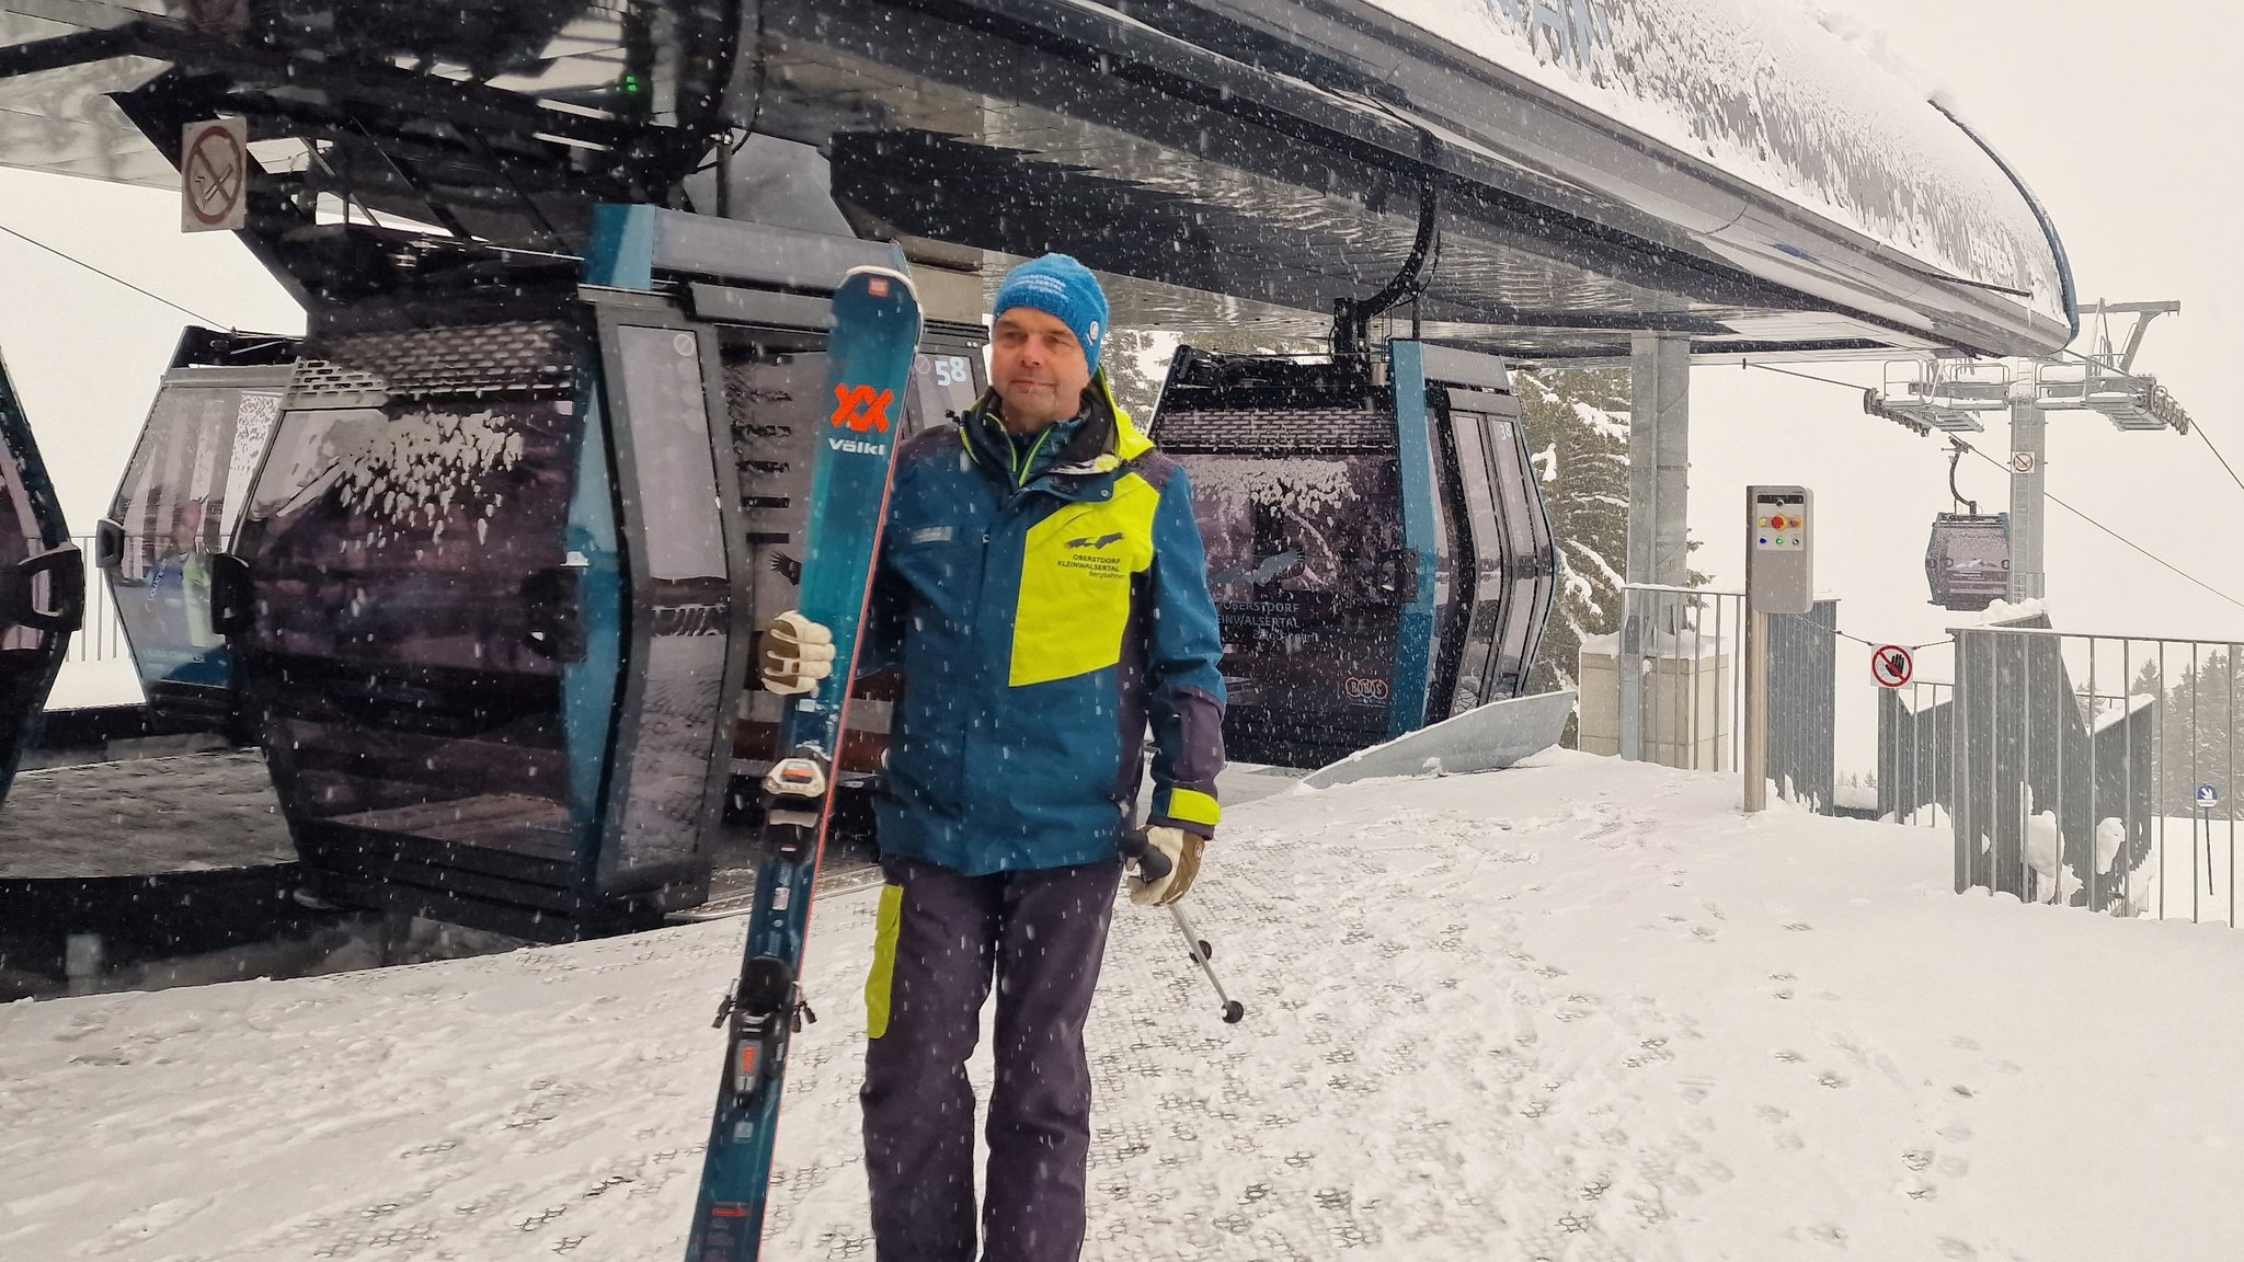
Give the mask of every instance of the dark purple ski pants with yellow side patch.
[(866, 981), (864, 1165), (880, 1262), (974, 1262), (967, 1055), (996, 975), (983, 1262), (1084, 1249), (1084, 1019), (1120, 862), (960, 876), (891, 858)]

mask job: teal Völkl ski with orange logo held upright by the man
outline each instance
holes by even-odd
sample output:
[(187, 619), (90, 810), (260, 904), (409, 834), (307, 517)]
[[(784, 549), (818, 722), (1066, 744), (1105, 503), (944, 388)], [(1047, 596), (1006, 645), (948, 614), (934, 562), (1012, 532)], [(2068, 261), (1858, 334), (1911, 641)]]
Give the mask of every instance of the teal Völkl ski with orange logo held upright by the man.
[(799, 979), (810, 894), (833, 820), (833, 757), (848, 721), (857, 633), (889, 514), (889, 474), (918, 341), (920, 299), (907, 276), (884, 267), (844, 276), (833, 299), (828, 393), (819, 400), (830, 413), (810, 465), (799, 597), (803, 618), (835, 635), (835, 671), (817, 692), (788, 703), (763, 781), (763, 867), (741, 979), (718, 1010), (727, 1031), (725, 1076), (687, 1262), (747, 1262), (763, 1244), (788, 1035), (808, 1015)]

